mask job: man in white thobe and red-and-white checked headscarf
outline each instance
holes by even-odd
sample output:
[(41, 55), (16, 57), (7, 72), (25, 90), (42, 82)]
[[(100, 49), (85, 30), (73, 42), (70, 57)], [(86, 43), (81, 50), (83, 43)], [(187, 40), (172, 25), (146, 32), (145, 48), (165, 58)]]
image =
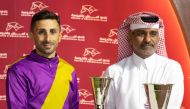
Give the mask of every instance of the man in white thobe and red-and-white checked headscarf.
[(130, 15), (118, 31), (118, 63), (104, 76), (113, 78), (105, 109), (149, 109), (143, 84), (174, 84), (167, 109), (180, 109), (184, 77), (178, 62), (167, 58), (162, 19), (150, 12)]

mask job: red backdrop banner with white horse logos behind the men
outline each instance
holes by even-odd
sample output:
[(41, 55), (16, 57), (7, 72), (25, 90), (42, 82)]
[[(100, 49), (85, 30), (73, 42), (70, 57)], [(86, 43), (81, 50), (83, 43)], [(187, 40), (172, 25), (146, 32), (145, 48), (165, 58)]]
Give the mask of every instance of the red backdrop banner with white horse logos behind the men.
[[(168, 57), (184, 71), (183, 107), (190, 109), (190, 59), (185, 35), (170, 0), (1, 0), (0, 3), (0, 109), (6, 107), (8, 65), (34, 48), (28, 36), (31, 17), (49, 9), (61, 16), (60, 57), (77, 71), (80, 109), (93, 109), (89, 77), (100, 76), (117, 60), (117, 31), (130, 14), (150, 11), (165, 24)], [(183, 109), (184, 109), (183, 108)]]

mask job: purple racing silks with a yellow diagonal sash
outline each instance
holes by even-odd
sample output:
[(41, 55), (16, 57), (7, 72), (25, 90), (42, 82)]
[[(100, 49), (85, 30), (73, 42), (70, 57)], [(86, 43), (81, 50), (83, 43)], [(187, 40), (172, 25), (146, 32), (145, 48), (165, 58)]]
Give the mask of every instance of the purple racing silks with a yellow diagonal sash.
[(9, 109), (79, 109), (75, 69), (56, 56), (47, 59), (32, 51), (7, 74)]

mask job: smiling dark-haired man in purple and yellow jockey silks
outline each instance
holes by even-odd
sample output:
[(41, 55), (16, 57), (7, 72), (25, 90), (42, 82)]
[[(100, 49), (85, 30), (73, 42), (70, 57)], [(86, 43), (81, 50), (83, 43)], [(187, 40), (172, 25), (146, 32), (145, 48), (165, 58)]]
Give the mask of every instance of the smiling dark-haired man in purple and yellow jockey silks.
[(7, 74), (9, 109), (79, 109), (75, 69), (58, 57), (60, 18), (42, 10), (31, 21), (35, 49), (11, 65)]

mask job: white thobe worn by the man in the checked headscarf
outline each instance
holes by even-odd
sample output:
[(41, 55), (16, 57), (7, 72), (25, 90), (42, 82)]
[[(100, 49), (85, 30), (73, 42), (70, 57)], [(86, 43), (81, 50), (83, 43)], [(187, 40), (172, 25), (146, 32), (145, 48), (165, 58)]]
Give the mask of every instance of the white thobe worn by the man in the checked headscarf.
[(113, 64), (105, 76), (113, 78), (105, 101), (105, 109), (146, 109), (143, 83), (174, 84), (168, 108), (180, 109), (184, 94), (184, 77), (178, 62), (153, 54), (142, 59), (132, 56)]

